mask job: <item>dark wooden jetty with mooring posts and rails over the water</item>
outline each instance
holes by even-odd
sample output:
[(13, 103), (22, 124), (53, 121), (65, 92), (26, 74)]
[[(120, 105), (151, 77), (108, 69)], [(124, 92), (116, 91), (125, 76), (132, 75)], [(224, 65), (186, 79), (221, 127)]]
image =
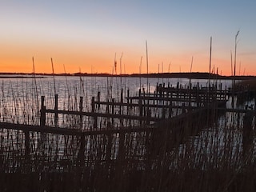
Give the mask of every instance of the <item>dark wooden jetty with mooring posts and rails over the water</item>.
[[(2, 145), (11, 140), (15, 146), (22, 146), (21, 150), (14, 150), (15, 154), (8, 153), (30, 161), (38, 161), (35, 154), (42, 159), (58, 154), (55, 163), (71, 155), (70, 161), (91, 166), (96, 160), (126, 161), (149, 155), (151, 160), (157, 159), (161, 149), (170, 151), (209, 126), (218, 107), (226, 103), (226, 92), (174, 91), (172, 87), (159, 86), (154, 94), (140, 91), (138, 96), (130, 97), (128, 93), (119, 102), (114, 98), (100, 101), (98, 93), (96, 99), (91, 99), (90, 111), (83, 110), (82, 97), (78, 111), (59, 110), (58, 95), (54, 97), (54, 109), (48, 109), (45, 99), (42, 96), (39, 125), (0, 122)], [(54, 152), (49, 153), (52, 147)]]

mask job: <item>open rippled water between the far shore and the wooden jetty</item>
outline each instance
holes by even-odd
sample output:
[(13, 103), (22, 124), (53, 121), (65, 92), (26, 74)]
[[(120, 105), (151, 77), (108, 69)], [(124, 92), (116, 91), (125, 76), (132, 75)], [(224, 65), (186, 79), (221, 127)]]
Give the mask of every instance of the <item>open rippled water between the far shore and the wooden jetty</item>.
[[(154, 93), (157, 83), (182, 87), (207, 86), (207, 79), (188, 78), (106, 78), (106, 77), (62, 77), (2, 78), (0, 79), (0, 119), (2, 122), (38, 124), (41, 96), (45, 96), (47, 109), (54, 109), (54, 95), (58, 94), (58, 110), (79, 110), (79, 99), (83, 97), (83, 109), (90, 111), (91, 98), (100, 92), (101, 101), (120, 101), (121, 90), (126, 98), (138, 95), (141, 88)], [(147, 84), (148, 82), (148, 84)], [(230, 87), (230, 80), (210, 80), (211, 84), (222, 84), (222, 90)], [(33, 118), (37, 117), (37, 118)], [(31, 122), (32, 121), (32, 122)]]

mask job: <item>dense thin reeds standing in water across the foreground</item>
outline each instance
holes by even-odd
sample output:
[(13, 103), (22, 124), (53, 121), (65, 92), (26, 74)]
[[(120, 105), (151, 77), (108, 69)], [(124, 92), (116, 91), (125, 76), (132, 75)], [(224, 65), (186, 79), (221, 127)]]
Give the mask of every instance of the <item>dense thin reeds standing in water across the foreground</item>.
[[(114, 79), (106, 86), (88, 82), (46, 84), (43, 79), (2, 82), (1, 122), (41, 126), (41, 97), (45, 106), (58, 110), (110, 114), (148, 115), (149, 108), (91, 105), (94, 102), (129, 102), (130, 91), (114, 94)], [(90, 82), (95, 82), (91, 79)], [(35, 86), (36, 85), (36, 86)], [(104, 84), (102, 84), (104, 85)], [(36, 87), (36, 88), (35, 88)], [(95, 89), (96, 88), (96, 89)], [(176, 87), (177, 88), (177, 87)], [(104, 91), (101, 91), (104, 90)], [(14, 91), (15, 90), (15, 91)], [(18, 90), (18, 91), (17, 91)], [(89, 90), (89, 91), (88, 91)], [(146, 98), (147, 91), (142, 91)], [(114, 97), (115, 95), (115, 97)], [(140, 94), (134, 92), (133, 97)], [(82, 98), (81, 98), (82, 97)], [(163, 97), (169, 97), (164, 95)], [(82, 99), (82, 105), (81, 105)], [(140, 100), (134, 100), (139, 104)], [(46, 114), (45, 126), (79, 130), (73, 134), (0, 130), (1, 191), (254, 191), (256, 140), (254, 122), (245, 114), (219, 113), (216, 105), (194, 112), (182, 102), (142, 99), (143, 105), (179, 105), (163, 110), (150, 107), (154, 118), (181, 117), (174, 122), (141, 122), (133, 119)], [(184, 103), (184, 102), (183, 102)], [(185, 103), (186, 107), (197, 106)], [(183, 105), (183, 106), (184, 106)], [(245, 105), (239, 104), (239, 105)], [(99, 106), (99, 107), (98, 107)], [(201, 106), (200, 106), (201, 107)], [(203, 107), (203, 106), (202, 106)], [(94, 108), (94, 109), (93, 109)], [(147, 109), (147, 110), (146, 110)], [(166, 109), (168, 109), (166, 107)], [(183, 117), (183, 118), (182, 118)], [(254, 118), (253, 118), (254, 119)], [(250, 138), (245, 127), (250, 126)], [(57, 124), (56, 124), (57, 123)], [(154, 129), (155, 128), (155, 129)], [(182, 130), (182, 131), (179, 131)]]

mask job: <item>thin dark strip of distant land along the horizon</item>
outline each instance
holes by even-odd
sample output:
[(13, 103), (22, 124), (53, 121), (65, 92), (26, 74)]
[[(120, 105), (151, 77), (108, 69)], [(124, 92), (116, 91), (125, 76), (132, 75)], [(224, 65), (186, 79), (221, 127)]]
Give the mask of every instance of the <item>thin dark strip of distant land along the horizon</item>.
[[(0, 73), (0, 78), (46, 78), (53, 74), (44, 73)], [(83, 76), (83, 77), (129, 77), (129, 78), (194, 78), (194, 79), (235, 79), (235, 80), (256, 80), (256, 76), (225, 76), (219, 74), (209, 74), (206, 72), (183, 72), (183, 73), (151, 73), (151, 74), (54, 74), (55, 76)]]

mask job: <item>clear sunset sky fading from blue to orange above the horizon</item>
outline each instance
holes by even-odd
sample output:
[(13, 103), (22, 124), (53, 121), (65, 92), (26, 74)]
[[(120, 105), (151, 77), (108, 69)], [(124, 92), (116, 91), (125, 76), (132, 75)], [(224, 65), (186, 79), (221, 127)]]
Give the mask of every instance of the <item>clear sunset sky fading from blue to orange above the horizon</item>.
[[(256, 75), (256, 1), (238, 0), (1, 0), (1, 72), (33, 71), (231, 74), (238, 30), (236, 74)], [(121, 59), (122, 57), (122, 59)]]

